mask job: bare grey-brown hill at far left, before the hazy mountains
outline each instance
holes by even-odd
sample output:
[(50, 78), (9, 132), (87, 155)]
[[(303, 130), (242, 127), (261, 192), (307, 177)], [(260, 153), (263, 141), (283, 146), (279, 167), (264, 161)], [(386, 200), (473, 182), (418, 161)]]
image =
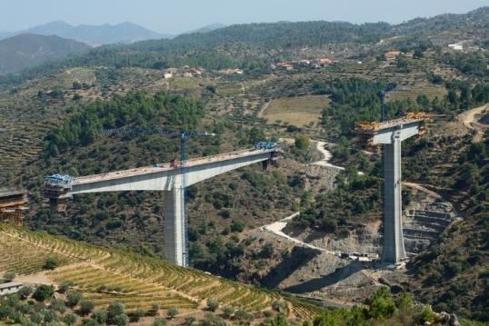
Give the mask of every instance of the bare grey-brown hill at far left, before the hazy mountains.
[(16, 35), (0, 41), (0, 74), (17, 73), (88, 49), (86, 44), (58, 36)]

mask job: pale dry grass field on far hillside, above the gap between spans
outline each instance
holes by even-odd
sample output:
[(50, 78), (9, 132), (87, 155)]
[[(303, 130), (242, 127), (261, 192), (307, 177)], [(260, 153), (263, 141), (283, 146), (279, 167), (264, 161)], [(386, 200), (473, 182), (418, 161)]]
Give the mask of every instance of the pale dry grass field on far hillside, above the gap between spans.
[(286, 97), (270, 102), (262, 116), (268, 123), (290, 123), (304, 126), (315, 123), (321, 117), (321, 112), (330, 103), (326, 95), (305, 95)]

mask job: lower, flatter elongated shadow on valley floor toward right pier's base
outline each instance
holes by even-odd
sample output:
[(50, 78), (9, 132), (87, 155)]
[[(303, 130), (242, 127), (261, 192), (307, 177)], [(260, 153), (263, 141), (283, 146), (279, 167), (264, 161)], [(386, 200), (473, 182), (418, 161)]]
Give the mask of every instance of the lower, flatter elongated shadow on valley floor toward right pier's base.
[(300, 284), (296, 284), (290, 286), (284, 291), (292, 292), (292, 293), (306, 293), (311, 291), (319, 291), (320, 289), (333, 285), (334, 283), (343, 281), (344, 279), (350, 277), (355, 272), (362, 271), (365, 267), (365, 262), (350, 262), (343, 267), (337, 268), (334, 272), (328, 275), (324, 275), (324, 277), (320, 277), (317, 279), (309, 280), (306, 282), (302, 282)]

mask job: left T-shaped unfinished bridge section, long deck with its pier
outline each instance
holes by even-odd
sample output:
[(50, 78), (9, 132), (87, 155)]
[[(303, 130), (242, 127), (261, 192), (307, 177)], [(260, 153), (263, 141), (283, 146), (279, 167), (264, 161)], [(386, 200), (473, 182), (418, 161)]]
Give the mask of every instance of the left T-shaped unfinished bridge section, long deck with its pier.
[[(189, 159), (185, 170), (178, 163), (163, 163), (124, 171), (87, 175), (66, 180), (57, 175), (47, 177), (44, 193), (52, 209), (75, 194), (127, 191), (159, 191), (164, 193), (165, 258), (185, 266), (186, 223), (185, 208), (180, 204), (185, 186), (200, 183), (218, 174), (254, 163), (267, 168), (279, 155), (273, 148), (250, 149), (232, 153)], [(184, 175), (185, 171), (185, 175)], [(51, 178), (51, 179), (50, 179)], [(185, 183), (184, 183), (185, 178)], [(59, 180), (58, 180), (59, 179)]]

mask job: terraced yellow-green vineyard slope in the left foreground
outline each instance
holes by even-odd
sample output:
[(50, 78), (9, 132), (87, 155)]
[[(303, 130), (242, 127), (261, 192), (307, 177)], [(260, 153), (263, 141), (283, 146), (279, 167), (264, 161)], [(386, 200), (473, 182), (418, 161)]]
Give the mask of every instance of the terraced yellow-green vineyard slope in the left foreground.
[[(198, 311), (213, 299), (223, 306), (248, 312), (271, 310), (275, 301), (286, 302), (289, 318), (313, 319), (322, 309), (273, 291), (230, 282), (205, 272), (183, 269), (169, 262), (126, 252), (105, 250), (82, 242), (29, 232), (0, 224), (0, 272), (12, 271), (25, 280), (58, 284), (73, 282), (84, 297), (104, 308), (113, 301), (128, 311), (171, 307)], [(46, 260), (58, 267), (46, 272)]]

